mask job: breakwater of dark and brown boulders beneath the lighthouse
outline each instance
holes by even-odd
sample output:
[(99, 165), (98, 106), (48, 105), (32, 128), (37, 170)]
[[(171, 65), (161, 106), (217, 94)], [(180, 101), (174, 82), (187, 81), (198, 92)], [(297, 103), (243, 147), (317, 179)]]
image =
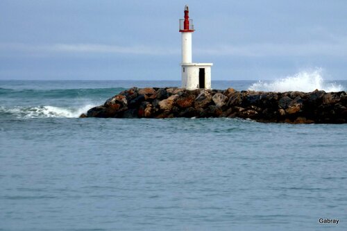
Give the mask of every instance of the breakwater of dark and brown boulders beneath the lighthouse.
[(229, 117), (261, 122), (346, 123), (346, 92), (238, 92), (176, 87), (130, 88), (81, 117)]

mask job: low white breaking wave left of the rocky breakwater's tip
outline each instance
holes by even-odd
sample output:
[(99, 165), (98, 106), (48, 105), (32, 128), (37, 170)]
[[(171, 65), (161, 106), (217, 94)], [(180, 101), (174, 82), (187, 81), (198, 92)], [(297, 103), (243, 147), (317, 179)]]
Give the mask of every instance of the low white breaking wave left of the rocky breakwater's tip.
[(82, 113), (87, 112), (94, 105), (83, 105), (81, 108), (62, 108), (54, 106), (35, 106), (35, 107), (0, 107), (0, 115), (17, 118), (48, 118), (65, 117), (77, 118)]

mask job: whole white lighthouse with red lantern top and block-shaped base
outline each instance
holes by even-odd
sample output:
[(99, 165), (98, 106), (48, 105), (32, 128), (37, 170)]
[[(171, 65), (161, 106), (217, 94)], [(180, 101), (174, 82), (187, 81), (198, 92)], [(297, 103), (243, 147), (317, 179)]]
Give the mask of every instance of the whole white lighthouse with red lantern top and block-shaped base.
[(189, 19), (189, 8), (185, 6), (185, 19), (180, 19), (180, 33), (182, 33), (182, 88), (211, 89), (212, 63), (192, 62), (192, 34), (193, 20)]

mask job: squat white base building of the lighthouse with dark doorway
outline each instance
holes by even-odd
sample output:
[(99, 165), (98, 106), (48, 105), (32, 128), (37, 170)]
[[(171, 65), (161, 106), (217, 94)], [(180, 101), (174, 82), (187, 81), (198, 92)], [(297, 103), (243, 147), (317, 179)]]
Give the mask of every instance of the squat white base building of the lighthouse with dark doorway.
[(182, 63), (182, 88), (211, 89), (212, 63)]

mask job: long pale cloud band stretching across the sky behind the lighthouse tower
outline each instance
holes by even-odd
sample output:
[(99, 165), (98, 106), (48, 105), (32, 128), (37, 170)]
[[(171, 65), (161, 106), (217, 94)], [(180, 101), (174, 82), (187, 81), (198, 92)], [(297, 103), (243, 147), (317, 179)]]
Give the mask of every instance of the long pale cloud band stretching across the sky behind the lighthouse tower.
[[(179, 55), (180, 48), (164, 46), (117, 46), (108, 44), (0, 44), (0, 51), (35, 53), (110, 53), (128, 55)], [(208, 48), (193, 48), (198, 55), (226, 55), (240, 57), (274, 56), (346, 56), (347, 37), (329, 42), (309, 42), (303, 44), (224, 44)]]

